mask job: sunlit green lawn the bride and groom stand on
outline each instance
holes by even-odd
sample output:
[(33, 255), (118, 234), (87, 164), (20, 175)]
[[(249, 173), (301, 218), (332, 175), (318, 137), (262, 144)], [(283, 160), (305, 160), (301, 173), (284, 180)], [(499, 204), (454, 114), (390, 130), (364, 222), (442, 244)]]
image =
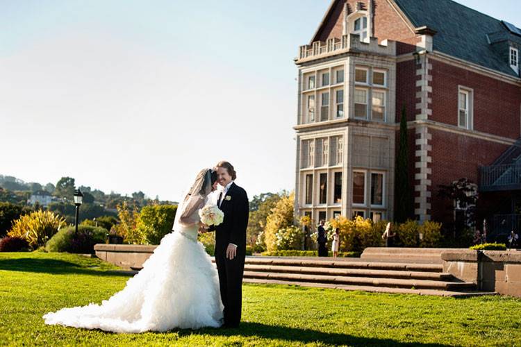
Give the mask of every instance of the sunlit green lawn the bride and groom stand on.
[(244, 285), (238, 329), (113, 334), (44, 325), (61, 307), (99, 303), (128, 276), (66, 253), (0, 253), (0, 345), (521, 346), (521, 299), (454, 299)]

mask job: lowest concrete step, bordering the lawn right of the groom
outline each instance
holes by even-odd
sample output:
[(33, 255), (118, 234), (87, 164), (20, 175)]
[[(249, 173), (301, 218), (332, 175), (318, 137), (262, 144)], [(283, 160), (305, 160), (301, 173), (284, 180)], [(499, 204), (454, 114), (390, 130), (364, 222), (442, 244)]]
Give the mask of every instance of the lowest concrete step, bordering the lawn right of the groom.
[(389, 293), (389, 294), (417, 294), (431, 296), (449, 296), (453, 298), (468, 298), (471, 296), (497, 295), (490, 291), (447, 291), (438, 289), (409, 289), (409, 288), (392, 288), (392, 287), (373, 287), (363, 285), (338, 285), (329, 283), (311, 283), (285, 280), (267, 280), (258, 278), (245, 278), (242, 282), (264, 284), (264, 285), (298, 285), (300, 287), (329, 288), (342, 289), (349, 291), (370, 291), (373, 293)]

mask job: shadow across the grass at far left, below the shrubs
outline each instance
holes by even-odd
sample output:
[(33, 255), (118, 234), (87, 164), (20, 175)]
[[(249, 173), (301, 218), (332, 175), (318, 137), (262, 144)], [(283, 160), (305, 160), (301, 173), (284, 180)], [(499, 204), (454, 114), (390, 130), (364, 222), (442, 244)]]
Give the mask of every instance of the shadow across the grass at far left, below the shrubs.
[(94, 276), (131, 276), (129, 273), (124, 271), (87, 269), (78, 266), (78, 264), (74, 264), (73, 262), (65, 262), (65, 260), (56, 259), (19, 258), (0, 260), (0, 270), (56, 274), (74, 273), (77, 275)]

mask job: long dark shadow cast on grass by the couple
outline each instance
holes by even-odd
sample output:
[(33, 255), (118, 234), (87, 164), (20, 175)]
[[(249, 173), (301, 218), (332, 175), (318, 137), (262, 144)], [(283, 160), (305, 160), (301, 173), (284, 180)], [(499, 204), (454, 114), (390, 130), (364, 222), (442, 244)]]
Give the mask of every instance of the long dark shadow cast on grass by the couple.
[(378, 339), (373, 337), (356, 337), (353, 335), (336, 332), (321, 332), (317, 330), (288, 328), (277, 325), (265, 325), (261, 323), (240, 323), (240, 328), (235, 329), (202, 329), (198, 331), (179, 330), (179, 337), (193, 334), (206, 334), (211, 336), (242, 336), (259, 337), (263, 339), (281, 339), (286, 341), (301, 342), (303, 344), (321, 343), (328, 345), (354, 345), (354, 346), (449, 346), (444, 344), (422, 344), (419, 342), (399, 342), (393, 339)]

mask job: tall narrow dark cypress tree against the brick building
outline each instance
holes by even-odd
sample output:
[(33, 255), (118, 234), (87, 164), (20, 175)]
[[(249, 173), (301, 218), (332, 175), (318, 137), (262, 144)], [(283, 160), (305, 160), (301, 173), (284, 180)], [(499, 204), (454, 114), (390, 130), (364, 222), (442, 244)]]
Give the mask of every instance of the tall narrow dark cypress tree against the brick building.
[(409, 185), (408, 136), (405, 105), (400, 119), (398, 155), (395, 165), (395, 221), (403, 223), (413, 218), (413, 200)]

